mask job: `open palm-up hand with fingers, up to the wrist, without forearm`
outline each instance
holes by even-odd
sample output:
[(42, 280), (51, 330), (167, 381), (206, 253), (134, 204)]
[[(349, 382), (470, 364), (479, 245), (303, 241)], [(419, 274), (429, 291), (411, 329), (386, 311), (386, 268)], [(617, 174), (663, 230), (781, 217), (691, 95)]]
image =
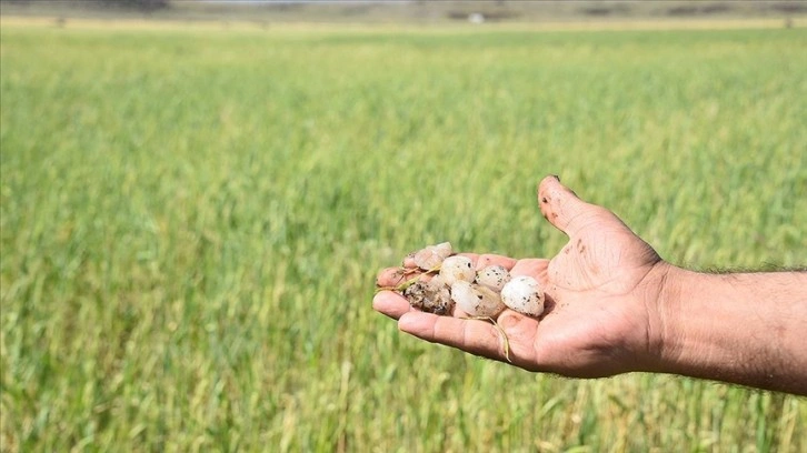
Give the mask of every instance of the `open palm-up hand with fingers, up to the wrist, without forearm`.
[[(530, 275), (545, 288), (540, 319), (511, 310), (497, 319), (509, 342), (509, 361), (522, 369), (598, 378), (651, 370), (659, 356), (658, 306), (670, 265), (612, 212), (586, 203), (545, 178), (538, 187), (544, 217), (569, 236), (551, 260), (515, 260), (466, 254), (477, 269), (501, 264), (512, 275)], [(379, 286), (400, 282), (399, 268), (379, 273)], [(499, 331), (456, 310), (440, 316), (411, 309), (401, 295), (381, 291), (373, 308), (398, 320), (404, 332), (499, 361), (506, 361)]]

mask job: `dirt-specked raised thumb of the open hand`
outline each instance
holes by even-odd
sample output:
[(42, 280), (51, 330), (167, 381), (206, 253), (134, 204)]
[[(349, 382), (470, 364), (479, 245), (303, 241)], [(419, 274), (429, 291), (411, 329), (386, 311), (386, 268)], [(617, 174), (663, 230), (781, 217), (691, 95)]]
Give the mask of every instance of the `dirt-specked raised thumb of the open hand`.
[(602, 220), (599, 207), (580, 200), (556, 175), (546, 177), (538, 184), (538, 205), (549, 223), (570, 238), (587, 224)]

